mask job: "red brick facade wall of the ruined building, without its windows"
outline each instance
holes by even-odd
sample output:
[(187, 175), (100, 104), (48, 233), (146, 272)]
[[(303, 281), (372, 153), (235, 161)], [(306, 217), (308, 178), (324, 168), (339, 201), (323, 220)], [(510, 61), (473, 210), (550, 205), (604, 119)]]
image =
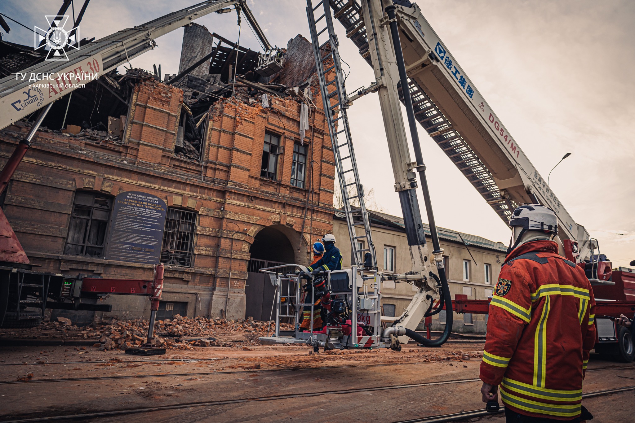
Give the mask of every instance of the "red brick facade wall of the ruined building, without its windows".
[[(141, 191), (171, 207), (196, 211), (192, 267), (166, 268), (164, 297), (169, 299), (175, 286), (197, 292), (197, 313), (218, 315), (228, 300), (231, 268), (229, 316), (241, 318), (249, 249), (258, 231), (280, 225), (294, 250), (300, 247), (298, 262), (307, 260), (311, 240), (332, 231), (333, 152), (319, 90), (312, 89), (320, 107), (311, 110), (304, 139), (313, 160), (307, 189), (290, 184), (293, 143), (300, 141), (297, 100), (272, 98), (269, 109), (236, 99), (218, 101), (210, 109), (203, 157), (195, 162), (173, 154), (182, 91), (149, 79), (135, 87), (123, 143), (39, 131), (11, 182), (6, 216), (32, 263), (43, 271), (150, 278), (149, 265), (63, 254), (75, 192)], [(0, 157), (6, 160), (26, 131), (18, 126), (1, 131)], [(265, 131), (278, 134), (284, 145), (278, 181), (260, 178)], [(311, 198), (312, 207), (307, 206)]]

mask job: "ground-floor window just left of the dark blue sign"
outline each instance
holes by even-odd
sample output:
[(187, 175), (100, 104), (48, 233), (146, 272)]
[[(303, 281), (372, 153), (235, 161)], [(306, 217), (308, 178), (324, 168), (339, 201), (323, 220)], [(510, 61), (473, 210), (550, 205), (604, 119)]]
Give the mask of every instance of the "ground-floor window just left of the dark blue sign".
[(109, 195), (76, 192), (64, 254), (102, 257), (111, 210)]

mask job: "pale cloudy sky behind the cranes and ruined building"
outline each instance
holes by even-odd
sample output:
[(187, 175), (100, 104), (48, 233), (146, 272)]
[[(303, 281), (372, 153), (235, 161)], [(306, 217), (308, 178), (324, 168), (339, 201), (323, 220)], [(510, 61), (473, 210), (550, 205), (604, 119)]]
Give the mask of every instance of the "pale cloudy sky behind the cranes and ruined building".
[[(83, 1), (76, 2), (76, 13)], [(302, 0), (249, 0), (271, 44), (286, 47), (297, 34), (309, 37)], [(570, 152), (551, 174), (551, 188), (614, 266), (635, 259), (635, 2), (624, 0), (420, 0), (416, 2), (453, 57), (542, 176)], [(0, 0), (0, 11), (28, 27), (46, 25), (61, 1)], [(140, 25), (194, 1), (91, 1), (81, 37), (107, 36)], [(196, 20), (235, 41), (236, 13)], [(32, 44), (33, 33), (8, 21), (3, 39)], [(352, 93), (372, 81), (371, 68), (335, 22), (340, 54), (350, 65)], [(182, 30), (157, 39), (158, 48), (132, 61), (175, 74)], [(241, 45), (259, 49), (245, 20)], [(344, 66), (347, 69), (346, 66)], [(401, 216), (377, 95), (349, 109), (361, 180), (374, 188), (377, 203)], [(439, 226), (494, 241), (509, 242), (509, 228), (467, 179), (429, 139), (420, 138), (432, 205)], [(422, 197), (419, 201), (423, 204)], [(422, 210), (425, 216), (425, 211)], [(425, 219), (424, 219), (425, 220)], [(621, 233), (624, 235), (615, 235)]]

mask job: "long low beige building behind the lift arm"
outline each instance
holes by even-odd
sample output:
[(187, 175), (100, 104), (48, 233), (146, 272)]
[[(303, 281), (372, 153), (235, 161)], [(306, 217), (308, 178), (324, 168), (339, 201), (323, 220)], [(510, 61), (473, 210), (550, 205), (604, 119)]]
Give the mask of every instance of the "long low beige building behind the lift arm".
[[(410, 253), (403, 219), (375, 211), (369, 211), (369, 214), (379, 267), (387, 273), (409, 271)], [(429, 246), (432, 247), (428, 225), (424, 224), (424, 230)], [(455, 294), (465, 294), (468, 299), (487, 299), (491, 296), (507, 247), (500, 242), (450, 229), (438, 228), (438, 231), (452, 299)], [(344, 257), (344, 267), (350, 267), (351, 243), (344, 214), (340, 212), (336, 212), (333, 219), (333, 235), (337, 238), (336, 245)], [(366, 246), (364, 245), (363, 248)], [(408, 283), (383, 282), (384, 315), (401, 315), (416, 291), (414, 285)], [(485, 333), (486, 317), (486, 315), (454, 313), (452, 332)], [(443, 330), (445, 320), (445, 311), (433, 316), (432, 330)], [(423, 329), (422, 325), (420, 329)]]

